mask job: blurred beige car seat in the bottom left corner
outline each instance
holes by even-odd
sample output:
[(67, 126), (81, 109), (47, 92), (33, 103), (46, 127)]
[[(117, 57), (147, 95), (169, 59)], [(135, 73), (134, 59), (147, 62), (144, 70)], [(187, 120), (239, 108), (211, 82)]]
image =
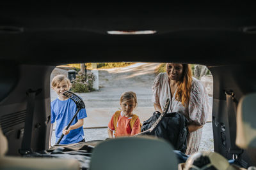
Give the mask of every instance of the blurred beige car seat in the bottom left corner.
[(7, 139), (0, 125), (0, 169), (80, 169), (80, 163), (74, 159), (49, 159), (4, 156), (8, 150)]

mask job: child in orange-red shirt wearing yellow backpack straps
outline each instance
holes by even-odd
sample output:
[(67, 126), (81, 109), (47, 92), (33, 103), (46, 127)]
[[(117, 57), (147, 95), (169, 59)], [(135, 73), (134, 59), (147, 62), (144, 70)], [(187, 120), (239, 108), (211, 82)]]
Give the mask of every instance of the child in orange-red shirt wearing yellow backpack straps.
[(121, 111), (116, 111), (108, 124), (108, 136), (133, 136), (140, 132), (140, 118), (132, 111), (136, 106), (137, 97), (134, 92), (124, 92), (120, 97)]

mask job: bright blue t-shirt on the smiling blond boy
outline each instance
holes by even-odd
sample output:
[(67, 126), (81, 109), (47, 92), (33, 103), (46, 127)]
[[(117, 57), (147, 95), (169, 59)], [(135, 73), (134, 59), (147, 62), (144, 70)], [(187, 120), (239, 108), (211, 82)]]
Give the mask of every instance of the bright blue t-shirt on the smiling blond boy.
[[(65, 126), (68, 125), (72, 117), (74, 117), (77, 111), (77, 106), (72, 99), (68, 98), (65, 101), (61, 101), (60, 99), (55, 99), (51, 102), (51, 123), (53, 124), (56, 121), (56, 142), (59, 140), (62, 134), (62, 130)], [(76, 122), (81, 118), (86, 118), (86, 110), (81, 109), (77, 114), (77, 117), (73, 120), (71, 125), (76, 124)], [(70, 144), (77, 143), (84, 139), (84, 131), (83, 126), (71, 130), (69, 134), (63, 136), (60, 141), (60, 144)]]

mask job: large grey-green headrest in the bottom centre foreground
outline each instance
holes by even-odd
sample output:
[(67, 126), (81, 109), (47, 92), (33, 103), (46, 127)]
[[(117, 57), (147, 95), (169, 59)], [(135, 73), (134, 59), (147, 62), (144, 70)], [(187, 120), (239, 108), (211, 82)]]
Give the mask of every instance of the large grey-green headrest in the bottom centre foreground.
[(103, 141), (93, 149), (90, 169), (177, 169), (172, 146), (156, 138), (126, 137)]

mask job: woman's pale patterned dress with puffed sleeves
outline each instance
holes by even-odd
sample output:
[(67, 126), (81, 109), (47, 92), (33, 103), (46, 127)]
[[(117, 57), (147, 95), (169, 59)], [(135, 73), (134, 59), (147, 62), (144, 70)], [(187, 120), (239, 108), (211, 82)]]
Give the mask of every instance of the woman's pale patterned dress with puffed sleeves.
[[(191, 85), (191, 93), (189, 98), (189, 103), (182, 105), (180, 101), (175, 99), (175, 93), (173, 97), (171, 97), (170, 85), (168, 83), (168, 75), (166, 73), (159, 73), (152, 87), (154, 92), (152, 96), (152, 102), (159, 104), (161, 109), (163, 110), (166, 99), (170, 98), (170, 108), (168, 109), (168, 113), (177, 112), (182, 113), (188, 118), (189, 123), (194, 122), (197, 125), (204, 125), (207, 121), (208, 113), (209, 113), (209, 99), (207, 91), (202, 85), (202, 83), (196, 78), (192, 79)], [(189, 133), (188, 136), (188, 145), (186, 154), (191, 155), (198, 151), (198, 146), (200, 145), (202, 137), (202, 128), (198, 129), (195, 132)]]

